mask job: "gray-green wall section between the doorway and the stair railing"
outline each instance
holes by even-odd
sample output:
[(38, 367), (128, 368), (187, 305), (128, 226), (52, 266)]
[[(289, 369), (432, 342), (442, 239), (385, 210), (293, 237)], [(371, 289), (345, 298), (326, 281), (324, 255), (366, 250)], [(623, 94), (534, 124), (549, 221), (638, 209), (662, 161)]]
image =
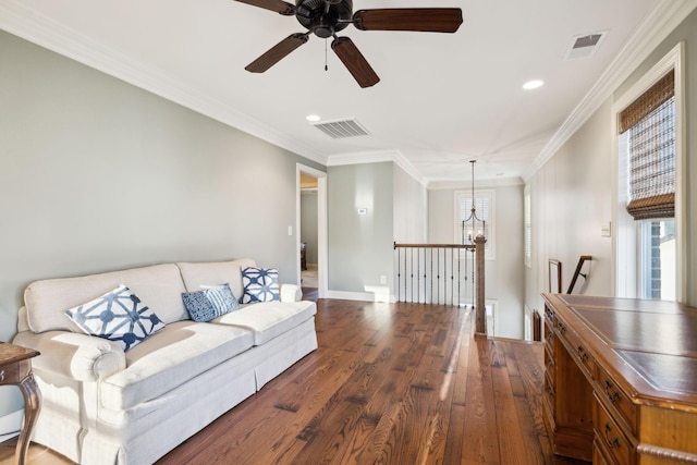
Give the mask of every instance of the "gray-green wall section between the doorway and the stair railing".
[[(392, 277), (392, 162), (327, 170), (329, 290), (366, 292)], [(366, 208), (366, 215), (358, 215)]]

